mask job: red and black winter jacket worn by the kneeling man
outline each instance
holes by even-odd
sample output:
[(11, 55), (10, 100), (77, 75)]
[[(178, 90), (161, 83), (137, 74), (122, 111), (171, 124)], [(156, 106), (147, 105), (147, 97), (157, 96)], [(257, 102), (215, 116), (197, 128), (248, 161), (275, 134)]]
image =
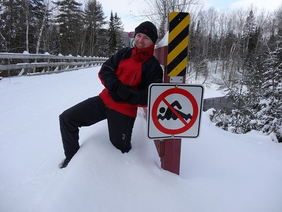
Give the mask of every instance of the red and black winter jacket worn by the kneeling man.
[[(102, 65), (98, 76), (105, 89), (99, 96), (106, 107), (131, 117), (136, 117), (137, 107), (147, 107), (149, 85), (163, 82), (163, 69), (153, 56), (154, 46), (122, 48)], [(135, 90), (127, 102), (115, 102), (108, 94), (118, 80)]]

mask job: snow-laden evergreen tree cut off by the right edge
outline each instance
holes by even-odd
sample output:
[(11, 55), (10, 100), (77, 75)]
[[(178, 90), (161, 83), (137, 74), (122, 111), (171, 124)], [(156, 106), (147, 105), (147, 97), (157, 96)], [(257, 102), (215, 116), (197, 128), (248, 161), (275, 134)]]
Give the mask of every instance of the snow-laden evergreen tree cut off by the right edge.
[(270, 52), (264, 62), (262, 97), (256, 110), (255, 123), (264, 133), (273, 133), (278, 142), (282, 142), (282, 36), (279, 36), (277, 48)]

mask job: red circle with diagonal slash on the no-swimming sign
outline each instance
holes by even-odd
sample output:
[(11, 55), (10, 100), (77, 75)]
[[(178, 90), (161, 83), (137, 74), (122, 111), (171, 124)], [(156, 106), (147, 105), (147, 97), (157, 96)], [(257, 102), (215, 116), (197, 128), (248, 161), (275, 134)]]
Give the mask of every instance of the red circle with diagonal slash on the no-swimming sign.
[[(167, 97), (168, 95), (171, 95), (171, 94), (181, 94), (181, 95), (184, 95), (185, 97), (187, 97), (189, 99), (189, 101), (192, 104), (192, 108), (193, 108), (193, 115), (192, 115), (192, 119), (190, 120), (190, 122), (186, 122), (177, 113), (177, 111), (175, 111), (175, 109), (173, 107), (171, 107), (170, 103), (165, 99), (165, 97)], [(162, 101), (180, 119), (180, 121), (184, 124), (184, 127), (181, 127), (179, 129), (168, 129), (168, 128), (165, 128), (164, 126), (161, 125), (161, 123), (159, 122), (159, 119), (158, 119), (157, 112), (158, 112), (158, 107), (159, 107), (159, 105)], [(152, 108), (152, 120), (153, 120), (155, 126), (161, 132), (163, 132), (165, 134), (169, 134), (169, 135), (181, 134), (181, 133), (184, 133), (185, 131), (187, 131), (188, 129), (190, 129), (193, 126), (193, 124), (196, 122), (197, 116), (198, 116), (198, 105), (197, 105), (196, 99), (194, 98), (194, 96), (190, 92), (188, 92), (187, 90), (184, 90), (182, 88), (171, 88), (171, 89), (168, 89), (165, 92), (161, 93), (158, 96), (158, 98), (156, 99), (156, 101), (154, 102), (153, 108)]]

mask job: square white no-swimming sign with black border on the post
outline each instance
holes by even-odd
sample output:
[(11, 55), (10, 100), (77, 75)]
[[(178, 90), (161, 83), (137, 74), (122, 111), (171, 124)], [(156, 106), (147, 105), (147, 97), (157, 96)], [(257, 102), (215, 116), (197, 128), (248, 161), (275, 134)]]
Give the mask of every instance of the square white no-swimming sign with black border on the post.
[(149, 87), (148, 137), (197, 138), (204, 87), (187, 84), (152, 84)]

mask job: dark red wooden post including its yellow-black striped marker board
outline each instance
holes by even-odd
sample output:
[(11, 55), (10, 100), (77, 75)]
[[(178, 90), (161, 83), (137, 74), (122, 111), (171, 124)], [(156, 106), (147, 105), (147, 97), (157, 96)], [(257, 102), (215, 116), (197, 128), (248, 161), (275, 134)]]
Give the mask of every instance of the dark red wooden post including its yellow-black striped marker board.
[[(169, 46), (162, 46), (154, 51), (154, 56), (159, 63), (165, 66), (164, 83), (177, 81), (178, 84), (185, 84), (189, 21), (190, 15), (188, 13), (172, 12), (169, 20)], [(179, 26), (179, 29), (176, 26)], [(154, 140), (154, 142), (161, 158), (161, 167), (179, 175), (181, 139), (170, 138)]]

